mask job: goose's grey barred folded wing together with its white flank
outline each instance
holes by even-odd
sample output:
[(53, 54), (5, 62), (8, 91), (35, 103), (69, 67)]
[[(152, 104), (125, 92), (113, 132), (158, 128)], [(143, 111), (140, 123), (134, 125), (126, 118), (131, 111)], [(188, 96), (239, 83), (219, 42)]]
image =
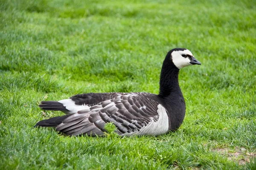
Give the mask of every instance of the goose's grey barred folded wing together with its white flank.
[(166, 110), (154, 100), (153, 94), (147, 97), (140, 94), (116, 96), (71, 114), (56, 130), (68, 135), (102, 135), (107, 122), (113, 122), (117, 133), (125, 136), (155, 135), (155, 128), (159, 134), (168, 131)]

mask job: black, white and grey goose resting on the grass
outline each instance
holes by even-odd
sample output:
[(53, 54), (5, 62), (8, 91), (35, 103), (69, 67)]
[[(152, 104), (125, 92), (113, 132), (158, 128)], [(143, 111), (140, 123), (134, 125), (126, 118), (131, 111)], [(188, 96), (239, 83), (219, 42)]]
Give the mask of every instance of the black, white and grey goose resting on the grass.
[(42, 110), (62, 111), (57, 116), (38, 122), (35, 127), (55, 127), (69, 136), (101, 136), (105, 125), (113, 122), (120, 136), (160, 135), (177, 130), (185, 116), (185, 101), (178, 75), (181, 68), (201, 65), (186, 48), (170, 50), (160, 74), (159, 94), (87, 93), (59, 101), (42, 101)]

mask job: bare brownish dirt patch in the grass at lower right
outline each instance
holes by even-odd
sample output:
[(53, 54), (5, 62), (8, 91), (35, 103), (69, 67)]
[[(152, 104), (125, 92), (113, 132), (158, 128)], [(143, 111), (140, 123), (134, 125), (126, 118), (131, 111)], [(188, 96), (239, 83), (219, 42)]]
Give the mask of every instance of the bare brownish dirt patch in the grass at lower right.
[(250, 158), (256, 157), (256, 153), (247, 152), (244, 147), (235, 147), (233, 150), (230, 148), (215, 148), (213, 151), (227, 156), (228, 160), (238, 161), (240, 165), (246, 164), (246, 162), (250, 162)]

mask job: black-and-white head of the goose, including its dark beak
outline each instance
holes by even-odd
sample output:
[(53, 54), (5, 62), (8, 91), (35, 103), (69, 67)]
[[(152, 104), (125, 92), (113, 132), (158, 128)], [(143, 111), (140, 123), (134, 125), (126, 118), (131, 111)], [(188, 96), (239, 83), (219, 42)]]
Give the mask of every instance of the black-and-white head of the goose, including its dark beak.
[(174, 48), (169, 51), (173, 64), (178, 68), (183, 68), (189, 65), (201, 65), (193, 54), (186, 48)]

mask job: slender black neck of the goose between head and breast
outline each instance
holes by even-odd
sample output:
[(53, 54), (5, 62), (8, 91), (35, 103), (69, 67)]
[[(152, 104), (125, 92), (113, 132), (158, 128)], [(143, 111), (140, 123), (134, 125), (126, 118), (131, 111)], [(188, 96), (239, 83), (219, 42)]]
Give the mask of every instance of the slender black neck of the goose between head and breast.
[(163, 61), (160, 75), (160, 97), (171, 96), (173, 92), (181, 92), (179, 86), (179, 69), (174, 65), (169, 57)]

